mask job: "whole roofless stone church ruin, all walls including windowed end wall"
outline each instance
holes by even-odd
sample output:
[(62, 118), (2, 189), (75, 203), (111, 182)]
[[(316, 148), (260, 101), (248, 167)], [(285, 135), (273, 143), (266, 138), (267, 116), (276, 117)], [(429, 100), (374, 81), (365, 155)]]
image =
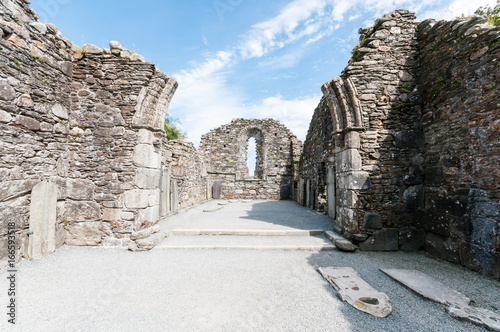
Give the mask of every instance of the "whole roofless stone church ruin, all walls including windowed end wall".
[(145, 250), (161, 218), (212, 197), (290, 197), (361, 250), (425, 249), (500, 278), (500, 32), (486, 19), (389, 13), (323, 85), (303, 148), (277, 121), (235, 119), (196, 150), (165, 138), (174, 79), (117, 42), (73, 45), (27, 3), (0, 0), (2, 264), (12, 231), (18, 258)]

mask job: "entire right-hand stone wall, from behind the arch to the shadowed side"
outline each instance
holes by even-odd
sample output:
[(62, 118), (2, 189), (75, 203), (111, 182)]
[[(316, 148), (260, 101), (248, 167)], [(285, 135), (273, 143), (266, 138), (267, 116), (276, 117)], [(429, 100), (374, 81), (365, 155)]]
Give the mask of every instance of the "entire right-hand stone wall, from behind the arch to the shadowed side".
[(396, 10), (360, 34), (322, 87), (298, 201), (325, 212), (326, 201), (361, 250), (425, 248), (498, 278), (499, 29)]

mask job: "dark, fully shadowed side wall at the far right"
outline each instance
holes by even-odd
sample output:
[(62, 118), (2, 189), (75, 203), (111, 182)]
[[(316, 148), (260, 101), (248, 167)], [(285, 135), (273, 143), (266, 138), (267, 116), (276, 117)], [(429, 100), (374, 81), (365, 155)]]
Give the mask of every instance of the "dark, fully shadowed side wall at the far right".
[(426, 249), (500, 278), (500, 30), (424, 21)]

